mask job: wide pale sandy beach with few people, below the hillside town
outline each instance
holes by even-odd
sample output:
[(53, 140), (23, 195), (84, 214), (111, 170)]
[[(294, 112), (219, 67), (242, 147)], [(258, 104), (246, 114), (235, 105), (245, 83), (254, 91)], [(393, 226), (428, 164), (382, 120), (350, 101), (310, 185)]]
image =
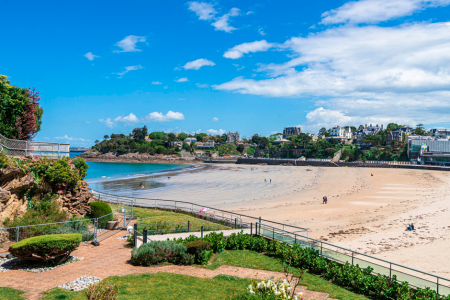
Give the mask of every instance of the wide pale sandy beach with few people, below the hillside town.
[[(214, 165), (154, 180), (165, 186), (150, 197), (307, 227), (311, 237), (450, 277), (447, 172)], [(417, 230), (405, 231), (411, 222)]]

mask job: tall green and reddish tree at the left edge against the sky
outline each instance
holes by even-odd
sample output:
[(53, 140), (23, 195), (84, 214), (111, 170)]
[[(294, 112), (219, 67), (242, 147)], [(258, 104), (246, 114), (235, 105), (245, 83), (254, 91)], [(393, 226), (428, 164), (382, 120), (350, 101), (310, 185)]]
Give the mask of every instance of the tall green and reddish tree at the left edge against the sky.
[(40, 130), (44, 110), (39, 93), (10, 84), (0, 75), (0, 134), (7, 138), (29, 140)]

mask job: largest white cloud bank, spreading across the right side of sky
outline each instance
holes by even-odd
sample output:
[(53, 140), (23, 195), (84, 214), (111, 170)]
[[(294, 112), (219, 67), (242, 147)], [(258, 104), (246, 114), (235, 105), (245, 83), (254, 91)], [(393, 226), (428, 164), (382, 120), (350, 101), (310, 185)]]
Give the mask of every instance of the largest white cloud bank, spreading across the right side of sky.
[(308, 112), (309, 127), (448, 122), (450, 23), (341, 26), (278, 48), (288, 52), (287, 61), (261, 64), (266, 78), (237, 77), (213, 88), (299, 101), (316, 97), (323, 110)]

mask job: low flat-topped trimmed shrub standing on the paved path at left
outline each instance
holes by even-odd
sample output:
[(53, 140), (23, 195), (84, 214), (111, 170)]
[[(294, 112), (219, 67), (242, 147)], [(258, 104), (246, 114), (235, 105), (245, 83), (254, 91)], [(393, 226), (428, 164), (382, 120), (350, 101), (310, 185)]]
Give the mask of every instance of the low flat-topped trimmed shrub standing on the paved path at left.
[(9, 246), (9, 252), (23, 260), (65, 261), (81, 244), (81, 234), (52, 234), (36, 236)]

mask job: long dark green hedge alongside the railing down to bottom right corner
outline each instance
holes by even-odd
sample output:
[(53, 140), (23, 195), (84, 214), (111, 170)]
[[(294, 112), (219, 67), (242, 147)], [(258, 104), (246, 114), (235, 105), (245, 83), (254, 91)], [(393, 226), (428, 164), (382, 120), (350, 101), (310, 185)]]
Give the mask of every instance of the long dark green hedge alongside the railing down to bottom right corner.
[[(211, 233), (203, 239), (189, 236), (186, 239), (177, 239), (178, 243), (187, 244), (192, 241), (204, 240), (211, 244), (214, 252), (227, 250), (252, 250), (264, 252), (265, 255), (275, 257), (283, 263), (319, 275), (337, 286), (341, 286), (355, 293), (377, 300), (450, 300), (450, 296), (439, 296), (430, 288), (411, 288), (407, 282), (398, 282), (395, 275), (392, 278), (384, 275), (374, 275), (371, 267), (360, 268), (349, 263), (340, 264), (319, 255), (319, 252), (300, 245), (293, 246), (278, 242), (266, 241), (260, 237), (247, 234), (231, 234), (225, 238), (223, 233)], [(253, 298), (252, 298), (253, 299)]]

